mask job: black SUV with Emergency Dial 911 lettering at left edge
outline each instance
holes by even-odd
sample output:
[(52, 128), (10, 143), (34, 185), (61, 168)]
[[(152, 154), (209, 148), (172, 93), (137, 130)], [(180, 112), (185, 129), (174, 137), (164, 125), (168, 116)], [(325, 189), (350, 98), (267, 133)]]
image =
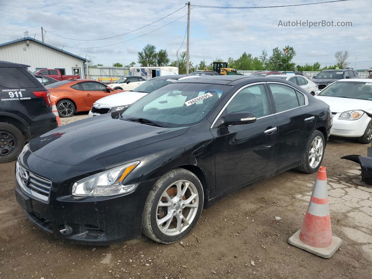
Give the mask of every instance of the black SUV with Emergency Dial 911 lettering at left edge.
[(0, 61), (0, 163), (15, 160), (25, 141), (58, 126), (48, 90), (27, 67)]

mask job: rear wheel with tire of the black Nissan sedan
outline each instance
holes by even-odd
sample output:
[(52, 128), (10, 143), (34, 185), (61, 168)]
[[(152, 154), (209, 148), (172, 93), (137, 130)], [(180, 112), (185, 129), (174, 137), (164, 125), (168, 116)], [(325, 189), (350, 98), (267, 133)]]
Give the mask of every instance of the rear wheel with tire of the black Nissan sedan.
[(323, 161), (324, 149), (324, 135), (321, 131), (315, 130), (307, 142), (302, 165), (296, 167), (296, 170), (303, 173), (314, 173), (317, 171)]

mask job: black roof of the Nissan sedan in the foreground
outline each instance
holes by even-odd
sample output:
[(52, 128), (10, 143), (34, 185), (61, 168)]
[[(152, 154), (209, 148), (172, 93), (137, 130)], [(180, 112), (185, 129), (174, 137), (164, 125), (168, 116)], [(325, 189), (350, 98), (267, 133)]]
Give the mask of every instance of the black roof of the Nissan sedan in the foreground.
[[(176, 83), (211, 83), (211, 84), (227, 84), (234, 86), (235, 84), (240, 83), (241, 81), (249, 81), (249, 83), (261, 82), (261, 81), (275, 81), (280, 82), (278, 78), (275, 77), (261, 77), (261, 76), (195, 76), (192, 78), (183, 79), (176, 81)], [(281, 80), (281, 82), (293, 84), (290, 81)]]

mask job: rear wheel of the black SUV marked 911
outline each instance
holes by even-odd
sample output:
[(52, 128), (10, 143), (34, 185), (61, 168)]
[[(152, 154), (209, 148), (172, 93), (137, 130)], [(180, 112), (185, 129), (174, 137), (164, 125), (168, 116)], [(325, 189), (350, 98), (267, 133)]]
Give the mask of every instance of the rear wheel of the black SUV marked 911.
[(14, 161), (25, 145), (19, 129), (9, 123), (0, 122), (0, 163)]

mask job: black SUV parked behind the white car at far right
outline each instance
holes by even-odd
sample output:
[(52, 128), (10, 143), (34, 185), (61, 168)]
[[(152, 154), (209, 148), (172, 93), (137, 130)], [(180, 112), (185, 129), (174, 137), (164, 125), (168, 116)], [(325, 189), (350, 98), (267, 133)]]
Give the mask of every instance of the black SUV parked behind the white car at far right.
[(322, 90), (327, 87), (328, 84), (342, 78), (359, 78), (359, 76), (357, 71), (353, 70), (353, 68), (329, 69), (321, 71), (311, 81), (318, 84), (319, 90)]

